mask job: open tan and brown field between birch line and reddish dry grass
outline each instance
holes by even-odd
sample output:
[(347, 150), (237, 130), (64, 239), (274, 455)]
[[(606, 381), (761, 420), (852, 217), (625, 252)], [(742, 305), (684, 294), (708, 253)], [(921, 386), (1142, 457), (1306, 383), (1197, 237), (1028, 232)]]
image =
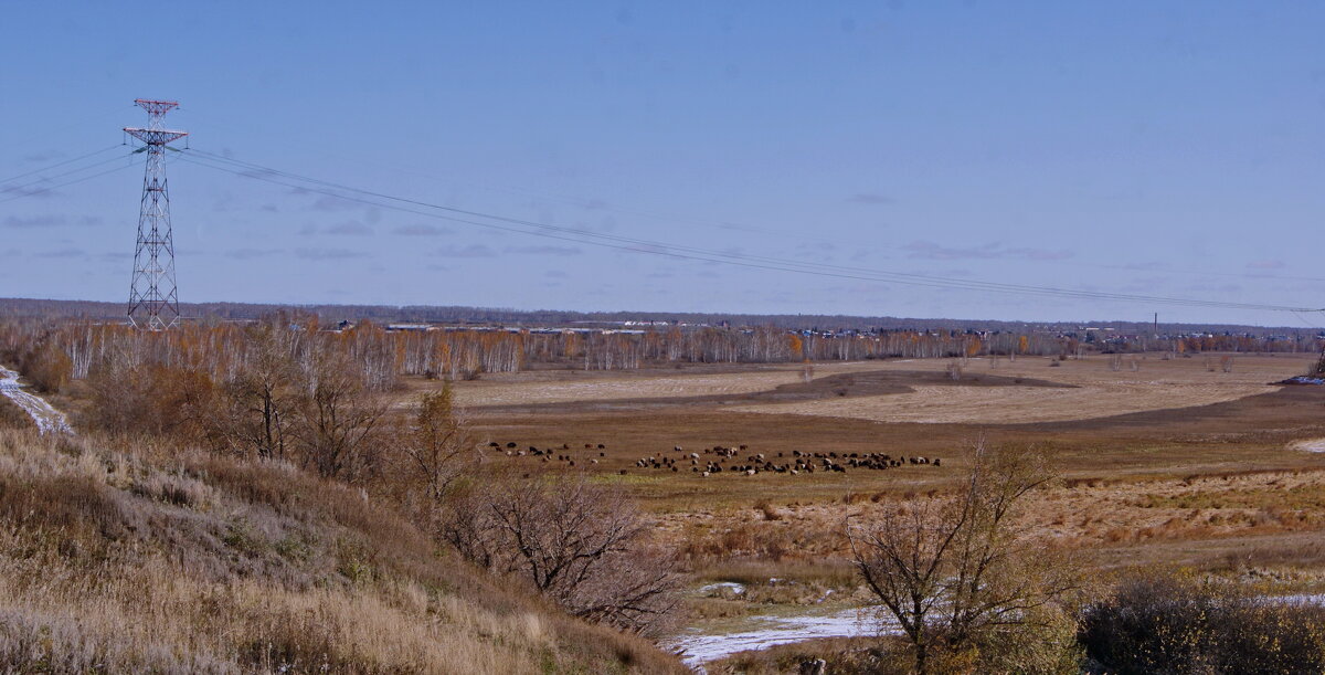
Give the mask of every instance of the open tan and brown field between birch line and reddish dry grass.
[[(572, 468), (555, 456), (543, 461), (493, 452), (498, 460), (530, 469), (588, 469), (602, 480), (629, 485), (656, 509), (693, 512), (750, 505), (758, 499), (804, 503), (847, 493), (937, 489), (957, 473), (977, 438), (1052, 442), (1068, 477), (1146, 480), (1318, 468), (1325, 455), (1293, 450), (1293, 444), (1325, 436), (1320, 414), (1325, 391), (1269, 385), (1300, 374), (1309, 362), (1306, 355), (1238, 355), (1232, 373), (1220, 371), (1218, 358), (1211, 373), (1199, 355), (1169, 361), (1150, 355), (1134, 373), (1110, 370), (1108, 357), (1055, 367), (1040, 358), (1004, 359), (996, 366), (971, 359), (955, 382), (943, 373), (947, 362), (942, 359), (816, 365), (808, 383), (800, 367), (696, 369), (693, 375), (656, 370), (625, 377), (537, 371), (460, 382), (456, 390), (458, 400), (469, 402), (470, 422), (490, 440), (517, 443), (522, 451), (566, 446), (556, 455), (576, 464)], [(653, 391), (653, 379), (668, 389)], [(771, 387), (757, 390), (755, 383)], [(719, 390), (726, 393), (714, 393)], [(588, 391), (591, 398), (566, 400), (575, 391)], [(515, 400), (522, 394), (537, 403), (473, 403)], [(894, 403), (918, 395), (933, 399), (924, 422), (800, 412), (861, 406), (921, 416), (914, 406)], [(946, 410), (955, 419), (938, 422)], [(1026, 410), (1030, 419), (1014, 410)], [(975, 414), (987, 419), (971, 419)], [(795, 451), (832, 451), (937, 456), (945, 463), (798, 476), (723, 472), (702, 477), (690, 471), (690, 452), (741, 444), (770, 459), (782, 452), (783, 460)], [(678, 471), (635, 465), (648, 456), (680, 460)]]

